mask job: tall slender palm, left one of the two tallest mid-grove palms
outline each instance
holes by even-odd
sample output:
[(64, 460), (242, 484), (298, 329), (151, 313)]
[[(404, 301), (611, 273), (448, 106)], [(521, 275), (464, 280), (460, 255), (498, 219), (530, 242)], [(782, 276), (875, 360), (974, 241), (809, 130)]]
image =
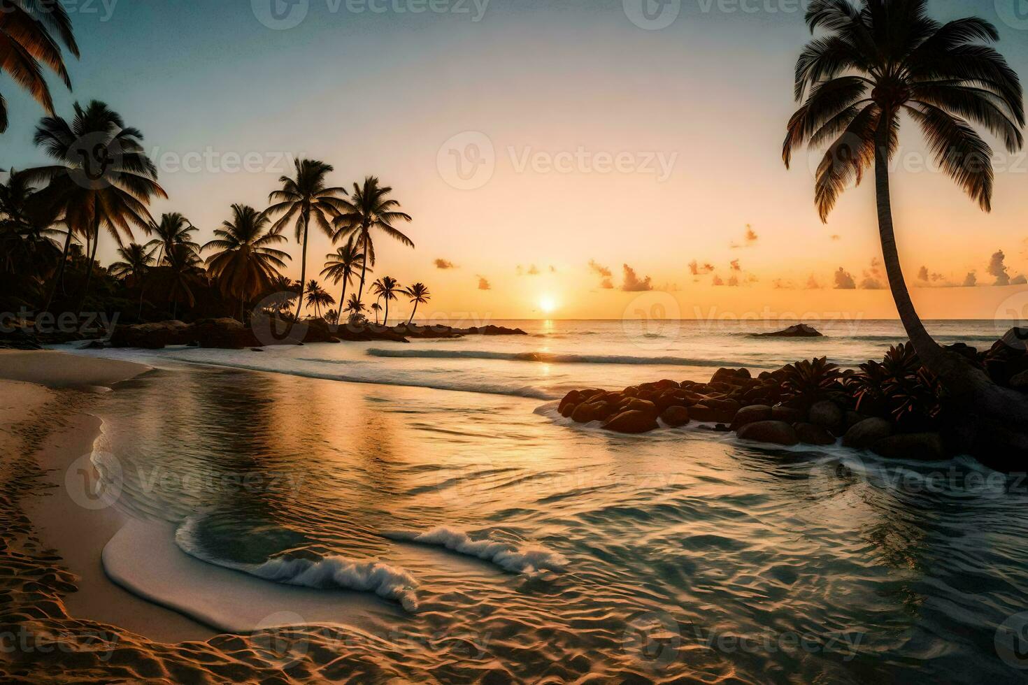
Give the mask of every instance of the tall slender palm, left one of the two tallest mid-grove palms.
[(329, 223), (343, 208), (339, 195), (345, 194), (342, 188), (328, 188), (325, 177), (334, 169), (331, 164), (316, 159), (295, 161), (296, 178), (283, 176), (279, 179), (282, 190), (276, 190), (268, 195), (268, 201), (274, 202), (264, 211), (265, 216), (272, 217), (282, 214), (274, 222), (271, 230), (276, 233), (290, 225), (296, 226), (296, 241), (303, 245), (300, 261), (300, 293), (296, 305), (296, 318), (300, 317), (303, 307), (303, 281), (307, 277), (307, 233), (313, 221), (326, 235), (332, 235)]

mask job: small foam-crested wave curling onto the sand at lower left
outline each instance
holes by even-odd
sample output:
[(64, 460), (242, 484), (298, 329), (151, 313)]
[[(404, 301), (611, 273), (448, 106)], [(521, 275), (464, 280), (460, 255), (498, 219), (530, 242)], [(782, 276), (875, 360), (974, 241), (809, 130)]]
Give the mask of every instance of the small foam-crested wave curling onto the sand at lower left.
[(402, 568), (340, 556), (317, 560), (278, 557), (260, 564), (218, 559), (206, 554), (196, 542), (197, 521), (196, 518), (186, 519), (175, 532), (175, 543), (182, 551), (201, 562), (284, 585), (370, 592), (383, 599), (399, 602), (407, 611), (417, 611), (417, 580)]

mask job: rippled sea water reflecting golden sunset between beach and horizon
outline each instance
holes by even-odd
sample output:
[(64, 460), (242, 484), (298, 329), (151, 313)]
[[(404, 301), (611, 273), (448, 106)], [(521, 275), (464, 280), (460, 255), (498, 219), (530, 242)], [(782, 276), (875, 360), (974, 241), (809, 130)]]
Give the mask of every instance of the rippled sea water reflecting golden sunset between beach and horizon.
[[(435, 669), (443, 680), (1023, 673), (995, 645), (997, 626), (1028, 608), (1028, 485), (1016, 477), (966, 459), (770, 450), (695, 427), (616, 436), (545, 406), (572, 386), (705, 380), (723, 361), (854, 364), (901, 340), (897, 325), (864, 322), (856, 338), (824, 327), (834, 335), (810, 341), (680, 329), (664, 348), (619, 339), (621, 322), (531, 326), (526, 338), (411, 345), (105, 351), (158, 369), (99, 401), (97, 449), (120, 468), (117, 505), (171, 521), (189, 555), (251, 575), (269, 560), (293, 569), (267, 581), (269, 596), (290, 580), (356, 589), (367, 576), (347, 563), (413, 585), (416, 607), (378, 593), (363, 641), (337, 627), (305, 643), (320, 663), (356, 651), (382, 677)], [(995, 339), (991, 321), (930, 328), (947, 341)], [(439, 527), (451, 529), (436, 535), (444, 546), (393, 534)], [(507, 556), (447, 549), (461, 534), (507, 543)], [(505, 566), (510, 555), (536, 565)], [(337, 561), (309, 572), (326, 560)]]

